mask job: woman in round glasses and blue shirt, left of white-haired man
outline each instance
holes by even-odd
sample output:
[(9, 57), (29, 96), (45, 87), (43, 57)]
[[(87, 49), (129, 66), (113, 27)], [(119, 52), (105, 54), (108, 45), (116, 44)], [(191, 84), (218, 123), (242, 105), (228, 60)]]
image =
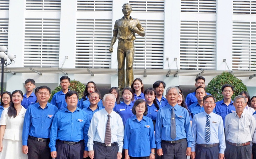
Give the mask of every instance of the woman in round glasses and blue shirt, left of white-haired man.
[(92, 92), (89, 94), (90, 105), (87, 108), (82, 109), (88, 114), (88, 118), (90, 122), (93, 118), (93, 114), (103, 109), (102, 107), (98, 106), (99, 101), (100, 101), (100, 94), (98, 92)]

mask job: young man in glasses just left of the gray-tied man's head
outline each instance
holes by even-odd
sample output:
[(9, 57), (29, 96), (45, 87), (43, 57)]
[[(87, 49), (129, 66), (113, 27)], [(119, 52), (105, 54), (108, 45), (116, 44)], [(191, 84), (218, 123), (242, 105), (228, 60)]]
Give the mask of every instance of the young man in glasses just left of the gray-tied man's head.
[(166, 84), (163, 81), (156, 81), (153, 84), (153, 88), (156, 91), (156, 102), (160, 106), (160, 108), (168, 104), (167, 99), (163, 97), (165, 86)]

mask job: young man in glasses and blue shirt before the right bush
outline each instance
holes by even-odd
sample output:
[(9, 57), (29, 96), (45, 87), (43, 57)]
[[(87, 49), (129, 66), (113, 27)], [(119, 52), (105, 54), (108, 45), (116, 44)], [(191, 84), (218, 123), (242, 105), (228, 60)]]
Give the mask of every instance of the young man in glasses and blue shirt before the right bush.
[[(224, 84), (221, 87), (223, 99), (221, 101), (216, 102), (215, 111), (216, 114), (220, 115), (222, 120), (225, 121), (225, 117), (229, 113), (233, 113), (236, 111), (235, 107), (233, 106), (233, 100), (231, 99), (234, 93), (234, 87), (230, 84)], [(225, 128), (225, 122), (224, 122)]]

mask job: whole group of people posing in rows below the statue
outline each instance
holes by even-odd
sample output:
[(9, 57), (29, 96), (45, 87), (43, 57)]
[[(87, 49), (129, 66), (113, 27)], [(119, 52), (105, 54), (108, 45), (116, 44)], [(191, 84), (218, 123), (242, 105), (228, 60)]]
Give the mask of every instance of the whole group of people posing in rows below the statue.
[[(144, 90), (140, 78), (121, 93), (112, 87), (101, 98), (94, 82), (79, 101), (62, 76), (62, 90), (48, 103), (48, 86), (1, 94), (0, 159), (251, 159), (256, 158), (256, 97), (246, 91), (223, 100), (205, 90), (205, 78), (186, 100), (179, 86), (156, 81)], [(33, 90), (35, 89), (35, 93)], [(122, 94), (123, 101), (120, 101)]]

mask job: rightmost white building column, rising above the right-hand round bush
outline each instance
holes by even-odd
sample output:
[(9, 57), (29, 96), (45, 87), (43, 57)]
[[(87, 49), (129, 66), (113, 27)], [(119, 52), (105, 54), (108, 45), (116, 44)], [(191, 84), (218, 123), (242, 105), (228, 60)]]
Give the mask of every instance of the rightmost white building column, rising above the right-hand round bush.
[(217, 1), (216, 70), (232, 70), (233, 1)]

